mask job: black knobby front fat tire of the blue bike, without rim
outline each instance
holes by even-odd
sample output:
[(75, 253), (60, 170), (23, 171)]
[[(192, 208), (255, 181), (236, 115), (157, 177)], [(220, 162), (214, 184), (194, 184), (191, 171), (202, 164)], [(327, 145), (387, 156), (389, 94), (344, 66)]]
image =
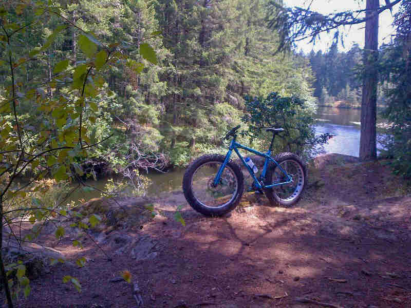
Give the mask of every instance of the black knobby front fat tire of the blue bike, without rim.
[(201, 167), (203, 164), (206, 164), (209, 162), (223, 163), (224, 160), (225, 160), (225, 157), (222, 155), (203, 155), (199, 157), (198, 159), (196, 159), (195, 161), (193, 161), (186, 168), (184, 172), (183, 183), (182, 183), (184, 197), (193, 209), (195, 209), (196, 211), (198, 211), (204, 216), (222, 216), (224, 214), (229, 213), (237, 206), (238, 202), (241, 199), (242, 193), (244, 192), (244, 176), (242, 175), (241, 169), (238, 167), (237, 164), (235, 164), (234, 162), (230, 160), (227, 163), (227, 165), (233, 170), (234, 175), (237, 177), (237, 185), (238, 185), (237, 193), (235, 197), (233, 198), (233, 200), (224, 207), (210, 208), (210, 207), (203, 206), (197, 200), (197, 198), (194, 197), (194, 193), (191, 187), (191, 182), (192, 182), (195, 171), (199, 167)]

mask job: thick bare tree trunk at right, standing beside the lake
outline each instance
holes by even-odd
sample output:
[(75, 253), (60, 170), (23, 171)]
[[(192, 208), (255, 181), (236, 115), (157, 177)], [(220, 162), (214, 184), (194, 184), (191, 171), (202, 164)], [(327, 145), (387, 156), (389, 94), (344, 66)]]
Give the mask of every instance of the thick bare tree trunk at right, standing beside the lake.
[(377, 159), (377, 83), (378, 83), (378, 13), (379, 0), (367, 0), (363, 95), (361, 101), (360, 160)]

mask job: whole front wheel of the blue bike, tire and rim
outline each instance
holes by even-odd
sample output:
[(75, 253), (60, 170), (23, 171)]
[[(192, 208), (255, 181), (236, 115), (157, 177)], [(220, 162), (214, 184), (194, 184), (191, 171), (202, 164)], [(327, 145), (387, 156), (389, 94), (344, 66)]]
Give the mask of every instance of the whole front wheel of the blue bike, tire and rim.
[(240, 168), (228, 162), (218, 184), (214, 179), (223, 164), (221, 155), (204, 155), (185, 170), (183, 191), (192, 208), (206, 216), (221, 216), (233, 210), (244, 191), (244, 177)]

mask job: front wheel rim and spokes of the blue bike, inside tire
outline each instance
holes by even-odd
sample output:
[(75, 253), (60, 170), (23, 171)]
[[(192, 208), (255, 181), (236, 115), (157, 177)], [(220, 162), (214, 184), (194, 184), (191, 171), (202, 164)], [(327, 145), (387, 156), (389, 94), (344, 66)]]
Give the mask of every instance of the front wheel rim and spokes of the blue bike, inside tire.
[(225, 207), (237, 195), (238, 179), (233, 169), (228, 165), (224, 168), (219, 183), (214, 187), (214, 179), (221, 164), (221, 162), (217, 161), (207, 162), (200, 165), (194, 171), (191, 180), (191, 190), (197, 202), (204, 207)]

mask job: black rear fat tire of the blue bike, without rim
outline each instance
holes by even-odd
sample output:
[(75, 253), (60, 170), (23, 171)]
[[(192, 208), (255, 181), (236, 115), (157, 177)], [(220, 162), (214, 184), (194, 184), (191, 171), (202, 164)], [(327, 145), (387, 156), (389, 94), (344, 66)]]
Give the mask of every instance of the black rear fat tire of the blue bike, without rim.
[[(305, 183), (307, 182), (306, 165), (303, 163), (303, 161), (301, 160), (300, 157), (298, 157), (294, 153), (290, 153), (290, 152), (279, 153), (278, 155), (276, 155), (274, 157), (274, 160), (278, 164), (281, 164), (282, 162), (284, 162), (286, 160), (292, 160), (292, 161), (295, 161), (296, 163), (298, 163), (301, 166), (301, 168), (303, 169), (303, 174), (304, 174), (303, 188), (301, 189), (300, 194), (298, 194), (297, 198), (295, 198), (292, 202), (284, 202), (283, 200), (281, 200), (277, 196), (277, 194), (275, 193), (275, 189), (273, 189), (273, 188), (264, 189), (264, 194), (266, 195), (267, 199), (270, 201), (272, 206), (281, 205), (281, 206), (284, 206), (284, 207), (290, 207), (290, 206), (294, 205), (295, 203), (297, 203), (298, 200), (300, 200), (301, 195), (303, 194)], [(266, 181), (265, 181), (266, 185), (270, 185), (272, 183), (272, 175), (273, 175), (273, 172), (275, 170), (275, 167), (276, 167), (276, 165), (274, 165), (273, 163), (270, 164), (270, 167), (268, 168), (267, 175), (266, 175)]]

